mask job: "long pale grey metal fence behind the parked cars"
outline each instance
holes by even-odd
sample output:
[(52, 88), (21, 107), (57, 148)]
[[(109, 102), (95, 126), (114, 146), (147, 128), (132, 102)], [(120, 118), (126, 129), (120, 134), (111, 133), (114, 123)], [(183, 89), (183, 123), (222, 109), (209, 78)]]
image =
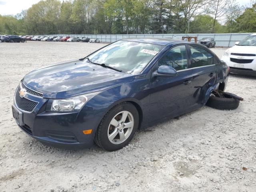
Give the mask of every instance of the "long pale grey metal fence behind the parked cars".
[[(235, 42), (241, 41), (251, 33), (228, 33), (228, 34), (55, 34), (54, 36), (71, 36), (71, 37), (88, 37), (88, 38), (99, 38), (100, 42), (115, 42), (117, 40), (125, 38), (173, 38), (176, 40), (182, 40), (183, 36), (196, 36), (198, 40), (204, 37), (214, 38), (216, 46), (231, 47), (234, 46)], [(53, 35), (44, 35), (53, 36)], [(192, 39), (194, 42), (194, 39)]]

